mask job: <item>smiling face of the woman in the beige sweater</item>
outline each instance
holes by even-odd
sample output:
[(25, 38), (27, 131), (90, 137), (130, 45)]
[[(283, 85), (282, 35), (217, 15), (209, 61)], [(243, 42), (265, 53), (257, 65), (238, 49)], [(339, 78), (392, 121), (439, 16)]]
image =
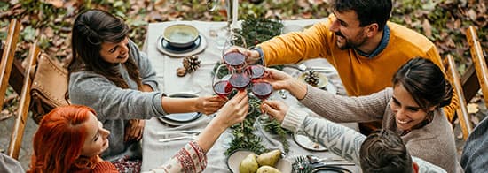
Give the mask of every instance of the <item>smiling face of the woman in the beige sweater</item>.
[[(421, 109), (401, 84), (393, 87), (390, 108), (395, 114), (398, 129), (403, 131), (411, 130), (413, 126), (420, 124), (427, 117), (427, 112)], [(435, 107), (429, 108), (430, 111), (434, 109)]]

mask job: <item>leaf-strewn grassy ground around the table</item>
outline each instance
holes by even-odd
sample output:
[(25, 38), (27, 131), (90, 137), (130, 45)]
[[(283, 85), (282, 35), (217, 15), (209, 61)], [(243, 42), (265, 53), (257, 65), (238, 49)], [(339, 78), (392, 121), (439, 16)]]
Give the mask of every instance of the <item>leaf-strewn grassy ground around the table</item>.
[[(224, 2), (224, 0), (217, 0)], [(280, 19), (321, 19), (330, 13), (332, 0), (240, 0), (240, 14), (265, 16)], [(27, 56), (29, 44), (39, 39), (40, 47), (61, 61), (70, 58), (69, 35), (75, 15), (83, 9), (105, 9), (125, 19), (130, 26), (130, 38), (139, 47), (146, 36), (146, 24), (173, 20), (224, 21), (226, 12), (223, 5), (216, 11), (208, 11), (201, 0), (0, 0), (0, 40), (6, 38), (9, 20), (20, 19), (22, 23), (17, 58)], [(397, 0), (394, 2), (391, 20), (426, 35), (437, 45), (441, 56), (451, 54), (459, 65), (460, 72), (471, 64), (465, 29), (476, 26), (484, 51), (488, 48), (488, 12), (485, 0)], [(41, 35), (37, 35), (40, 32)], [(12, 92), (11, 92), (12, 93)], [(15, 97), (8, 94), (6, 98)], [(471, 107), (473, 122), (477, 124), (488, 115), (482, 97), (477, 96)], [(15, 99), (9, 100), (0, 113), (0, 119), (13, 115)], [(13, 117), (0, 121), (0, 149), (6, 150), (10, 140)], [(459, 136), (459, 125), (455, 129)], [(28, 168), (32, 154), (32, 137), (37, 125), (31, 118), (24, 135), (20, 162)], [(459, 153), (463, 142), (457, 140)]]

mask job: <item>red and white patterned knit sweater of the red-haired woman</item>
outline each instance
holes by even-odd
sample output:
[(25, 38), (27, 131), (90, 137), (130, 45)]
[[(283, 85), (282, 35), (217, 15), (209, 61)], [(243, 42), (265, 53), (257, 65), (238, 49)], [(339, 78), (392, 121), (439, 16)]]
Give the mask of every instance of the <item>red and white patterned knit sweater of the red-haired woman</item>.
[[(152, 169), (148, 172), (167, 173), (167, 172), (202, 172), (207, 167), (207, 156), (201, 147), (191, 141), (181, 148), (168, 162), (160, 168)], [(72, 169), (75, 173), (118, 173), (119, 171), (111, 162), (98, 162), (93, 169)]]

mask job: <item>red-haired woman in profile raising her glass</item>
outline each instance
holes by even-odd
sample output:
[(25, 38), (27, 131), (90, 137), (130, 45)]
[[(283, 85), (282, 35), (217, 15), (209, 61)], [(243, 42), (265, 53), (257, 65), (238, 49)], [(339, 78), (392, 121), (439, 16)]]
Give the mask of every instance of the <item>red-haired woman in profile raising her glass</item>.
[[(181, 148), (171, 160), (153, 172), (201, 172), (207, 166), (206, 153), (216, 139), (232, 124), (240, 123), (248, 114), (246, 92), (236, 94), (195, 139)], [(124, 172), (113, 163), (103, 161), (99, 154), (110, 145), (113, 136), (106, 130), (94, 109), (68, 105), (52, 109), (43, 116), (34, 135), (34, 154), (28, 173)], [(140, 171), (132, 168), (131, 172)]]

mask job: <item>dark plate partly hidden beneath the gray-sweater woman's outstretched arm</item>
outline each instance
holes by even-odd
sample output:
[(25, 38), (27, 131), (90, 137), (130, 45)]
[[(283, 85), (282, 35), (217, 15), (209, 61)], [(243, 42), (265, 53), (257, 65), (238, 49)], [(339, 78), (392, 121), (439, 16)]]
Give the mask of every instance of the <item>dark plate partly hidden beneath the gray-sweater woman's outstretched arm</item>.
[[(179, 94), (171, 94), (169, 97), (173, 98), (194, 98), (198, 97), (196, 94), (189, 94), (189, 93), (179, 93)], [(188, 112), (188, 113), (177, 113), (177, 114), (169, 114), (164, 117), (158, 117), (161, 122), (179, 126), (182, 124), (186, 124), (189, 122), (193, 122), (201, 117), (201, 112)]]

